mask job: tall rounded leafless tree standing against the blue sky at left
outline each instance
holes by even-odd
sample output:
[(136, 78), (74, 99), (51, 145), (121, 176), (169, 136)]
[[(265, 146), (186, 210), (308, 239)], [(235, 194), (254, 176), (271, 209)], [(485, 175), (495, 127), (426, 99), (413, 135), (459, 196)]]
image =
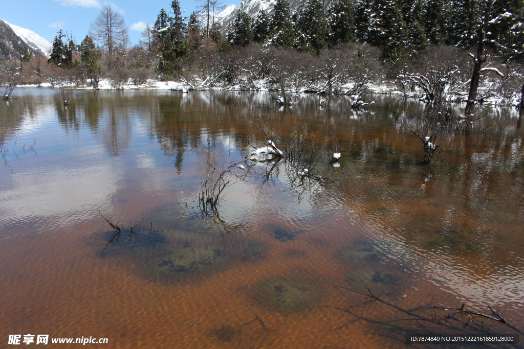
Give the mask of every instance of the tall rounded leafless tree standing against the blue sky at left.
[(118, 49), (125, 48), (128, 42), (124, 18), (111, 5), (105, 5), (91, 23), (90, 35), (98, 41), (108, 57)]

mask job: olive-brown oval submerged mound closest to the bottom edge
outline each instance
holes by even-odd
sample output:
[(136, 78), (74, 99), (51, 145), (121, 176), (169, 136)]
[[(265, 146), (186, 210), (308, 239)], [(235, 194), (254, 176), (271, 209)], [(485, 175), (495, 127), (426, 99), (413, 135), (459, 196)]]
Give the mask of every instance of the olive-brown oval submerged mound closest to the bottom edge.
[(320, 291), (305, 280), (273, 279), (255, 287), (254, 297), (269, 308), (296, 311), (318, 304)]

